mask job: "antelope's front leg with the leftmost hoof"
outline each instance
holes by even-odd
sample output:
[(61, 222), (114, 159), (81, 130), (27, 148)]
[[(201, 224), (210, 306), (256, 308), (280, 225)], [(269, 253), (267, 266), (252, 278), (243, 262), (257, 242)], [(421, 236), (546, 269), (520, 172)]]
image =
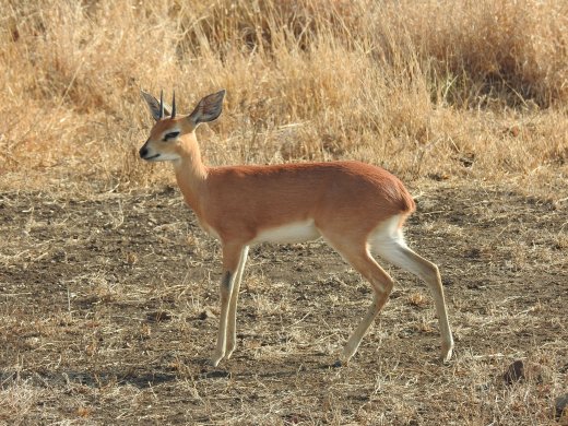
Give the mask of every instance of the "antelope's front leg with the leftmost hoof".
[(221, 280), (221, 313), (218, 318), (217, 346), (213, 353), (211, 364), (216, 367), (225, 356), (227, 343), (228, 306), (235, 283), (242, 246), (223, 245), (223, 277)]

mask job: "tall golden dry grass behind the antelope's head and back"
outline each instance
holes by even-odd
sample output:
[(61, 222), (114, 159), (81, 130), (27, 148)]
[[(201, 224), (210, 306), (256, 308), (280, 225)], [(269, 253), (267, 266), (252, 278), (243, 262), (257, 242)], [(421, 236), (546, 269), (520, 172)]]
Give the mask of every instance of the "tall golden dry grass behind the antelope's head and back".
[(168, 179), (139, 90), (189, 110), (210, 163), (359, 158), (405, 179), (551, 179), (568, 158), (568, 3), (0, 0), (0, 186)]

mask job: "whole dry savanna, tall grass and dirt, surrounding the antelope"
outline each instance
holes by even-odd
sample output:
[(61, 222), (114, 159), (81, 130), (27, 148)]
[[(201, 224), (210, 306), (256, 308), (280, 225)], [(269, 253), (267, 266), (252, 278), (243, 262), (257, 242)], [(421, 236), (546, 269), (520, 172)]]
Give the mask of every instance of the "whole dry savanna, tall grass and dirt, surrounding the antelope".
[[(164, 3), (0, 1), (0, 423), (567, 424), (568, 3)], [(390, 301), (332, 367), (371, 293), (315, 241), (251, 250), (237, 350), (208, 364), (220, 245), (137, 158), (139, 90), (190, 110), (220, 87), (209, 163), (407, 184), (450, 363), (426, 287), (386, 265)]]

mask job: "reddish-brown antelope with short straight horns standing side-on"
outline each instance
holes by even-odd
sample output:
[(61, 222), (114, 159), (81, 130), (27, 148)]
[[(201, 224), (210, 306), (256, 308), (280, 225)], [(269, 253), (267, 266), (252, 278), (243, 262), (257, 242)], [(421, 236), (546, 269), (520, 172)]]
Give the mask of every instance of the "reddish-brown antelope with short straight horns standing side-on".
[(421, 277), (430, 289), (441, 334), (441, 359), (453, 339), (438, 267), (411, 250), (402, 226), (415, 210), (404, 185), (383, 168), (354, 161), (208, 167), (196, 130), (222, 111), (225, 91), (203, 97), (187, 116), (142, 92), (156, 120), (140, 149), (147, 162), (170, 162), (186, 203), (200, 226), (221, 240), (223, 273), (214, 367), (236, 346), (236, 313), (242, 271), (251, 245), (301, 242), (322, 237), (371, 285), (372, 303), (335, 363), (356, 353), (393, 287), (372, 255)]

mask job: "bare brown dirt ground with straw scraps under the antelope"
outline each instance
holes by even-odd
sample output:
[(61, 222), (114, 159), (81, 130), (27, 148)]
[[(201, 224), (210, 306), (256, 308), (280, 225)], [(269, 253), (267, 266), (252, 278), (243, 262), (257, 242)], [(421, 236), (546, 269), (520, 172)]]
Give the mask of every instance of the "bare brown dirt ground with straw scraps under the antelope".
[[(440, 267), (434, 306), (397, 286), (348, 366), (331, 365), (370, 287), (323, 242), (251, 250), (238, 347), (209, 366), (220, 246), (176, 189), (0, 196), (0, 423), (546, 425), (568, 390), (568, 224), (480, 182), (413, 188), (410, 245)], [(525, 377), (507, 384), (516, 359)], [(566, 424), (566, 423), (565, 423)]]

